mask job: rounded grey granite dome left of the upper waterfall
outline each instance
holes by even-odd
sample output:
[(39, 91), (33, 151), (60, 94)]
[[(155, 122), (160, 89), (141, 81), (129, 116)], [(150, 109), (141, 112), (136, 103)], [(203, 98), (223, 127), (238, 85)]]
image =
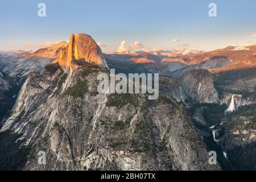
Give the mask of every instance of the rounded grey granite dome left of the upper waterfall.
[(200, 103), (217, 103), (218, 93), (213, 85), (212, 76), (205, 69), (194, 69), (181, 77), (183, 92)]

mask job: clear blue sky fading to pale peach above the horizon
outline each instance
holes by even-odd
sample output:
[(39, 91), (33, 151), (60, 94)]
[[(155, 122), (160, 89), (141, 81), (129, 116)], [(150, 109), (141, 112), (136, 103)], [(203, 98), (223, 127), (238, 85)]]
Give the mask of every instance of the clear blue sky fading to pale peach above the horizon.
[[(104, 52), (116, 51), (123, 40), (121, 48), (147, 51), (208, 51), (256, 42), (255, 0), (0, 2), (4, 51), (38, 49), (78, 32), (91, 35)], [(46, 3), (46, 17), (38, 16), (40, 2)], [(217, 5), (217, 17), (208, 15), (210, 2)]]

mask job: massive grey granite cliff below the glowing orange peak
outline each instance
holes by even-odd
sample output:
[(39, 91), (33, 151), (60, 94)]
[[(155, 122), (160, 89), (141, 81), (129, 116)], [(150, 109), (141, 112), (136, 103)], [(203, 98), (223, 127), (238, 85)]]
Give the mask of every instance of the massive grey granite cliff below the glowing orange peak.
[[(78, 44), (76, 39), (72, 44)], [(187, 111), (167, 93), (158, 100), (144, 94), (100, 94), (97, 76), (109, 74), (108, 69), (77, 55), (91, 56), (74, 53), (83, 66), (72, 72), (57, 61), (43, 73), (31, 73), (1, 129), (19, 135), (16, 141), (28, 150), (22, 169), (220, 169), (208, 163)], [(72, 68), (77, 61), (68, 64)], [(39, 151), (46, 152), (46, 165), (38, 164)]]

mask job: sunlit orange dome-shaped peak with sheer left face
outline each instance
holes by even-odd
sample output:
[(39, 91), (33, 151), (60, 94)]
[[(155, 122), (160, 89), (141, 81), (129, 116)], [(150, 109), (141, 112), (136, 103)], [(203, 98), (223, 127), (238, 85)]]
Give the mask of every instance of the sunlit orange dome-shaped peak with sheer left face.
[(108, 68), (100, 47), (87, 34), (71, 34), (68, 46), (61, 49), (56, 61), (61, 67), (69, 67), (72, 60), (84, 60)]

